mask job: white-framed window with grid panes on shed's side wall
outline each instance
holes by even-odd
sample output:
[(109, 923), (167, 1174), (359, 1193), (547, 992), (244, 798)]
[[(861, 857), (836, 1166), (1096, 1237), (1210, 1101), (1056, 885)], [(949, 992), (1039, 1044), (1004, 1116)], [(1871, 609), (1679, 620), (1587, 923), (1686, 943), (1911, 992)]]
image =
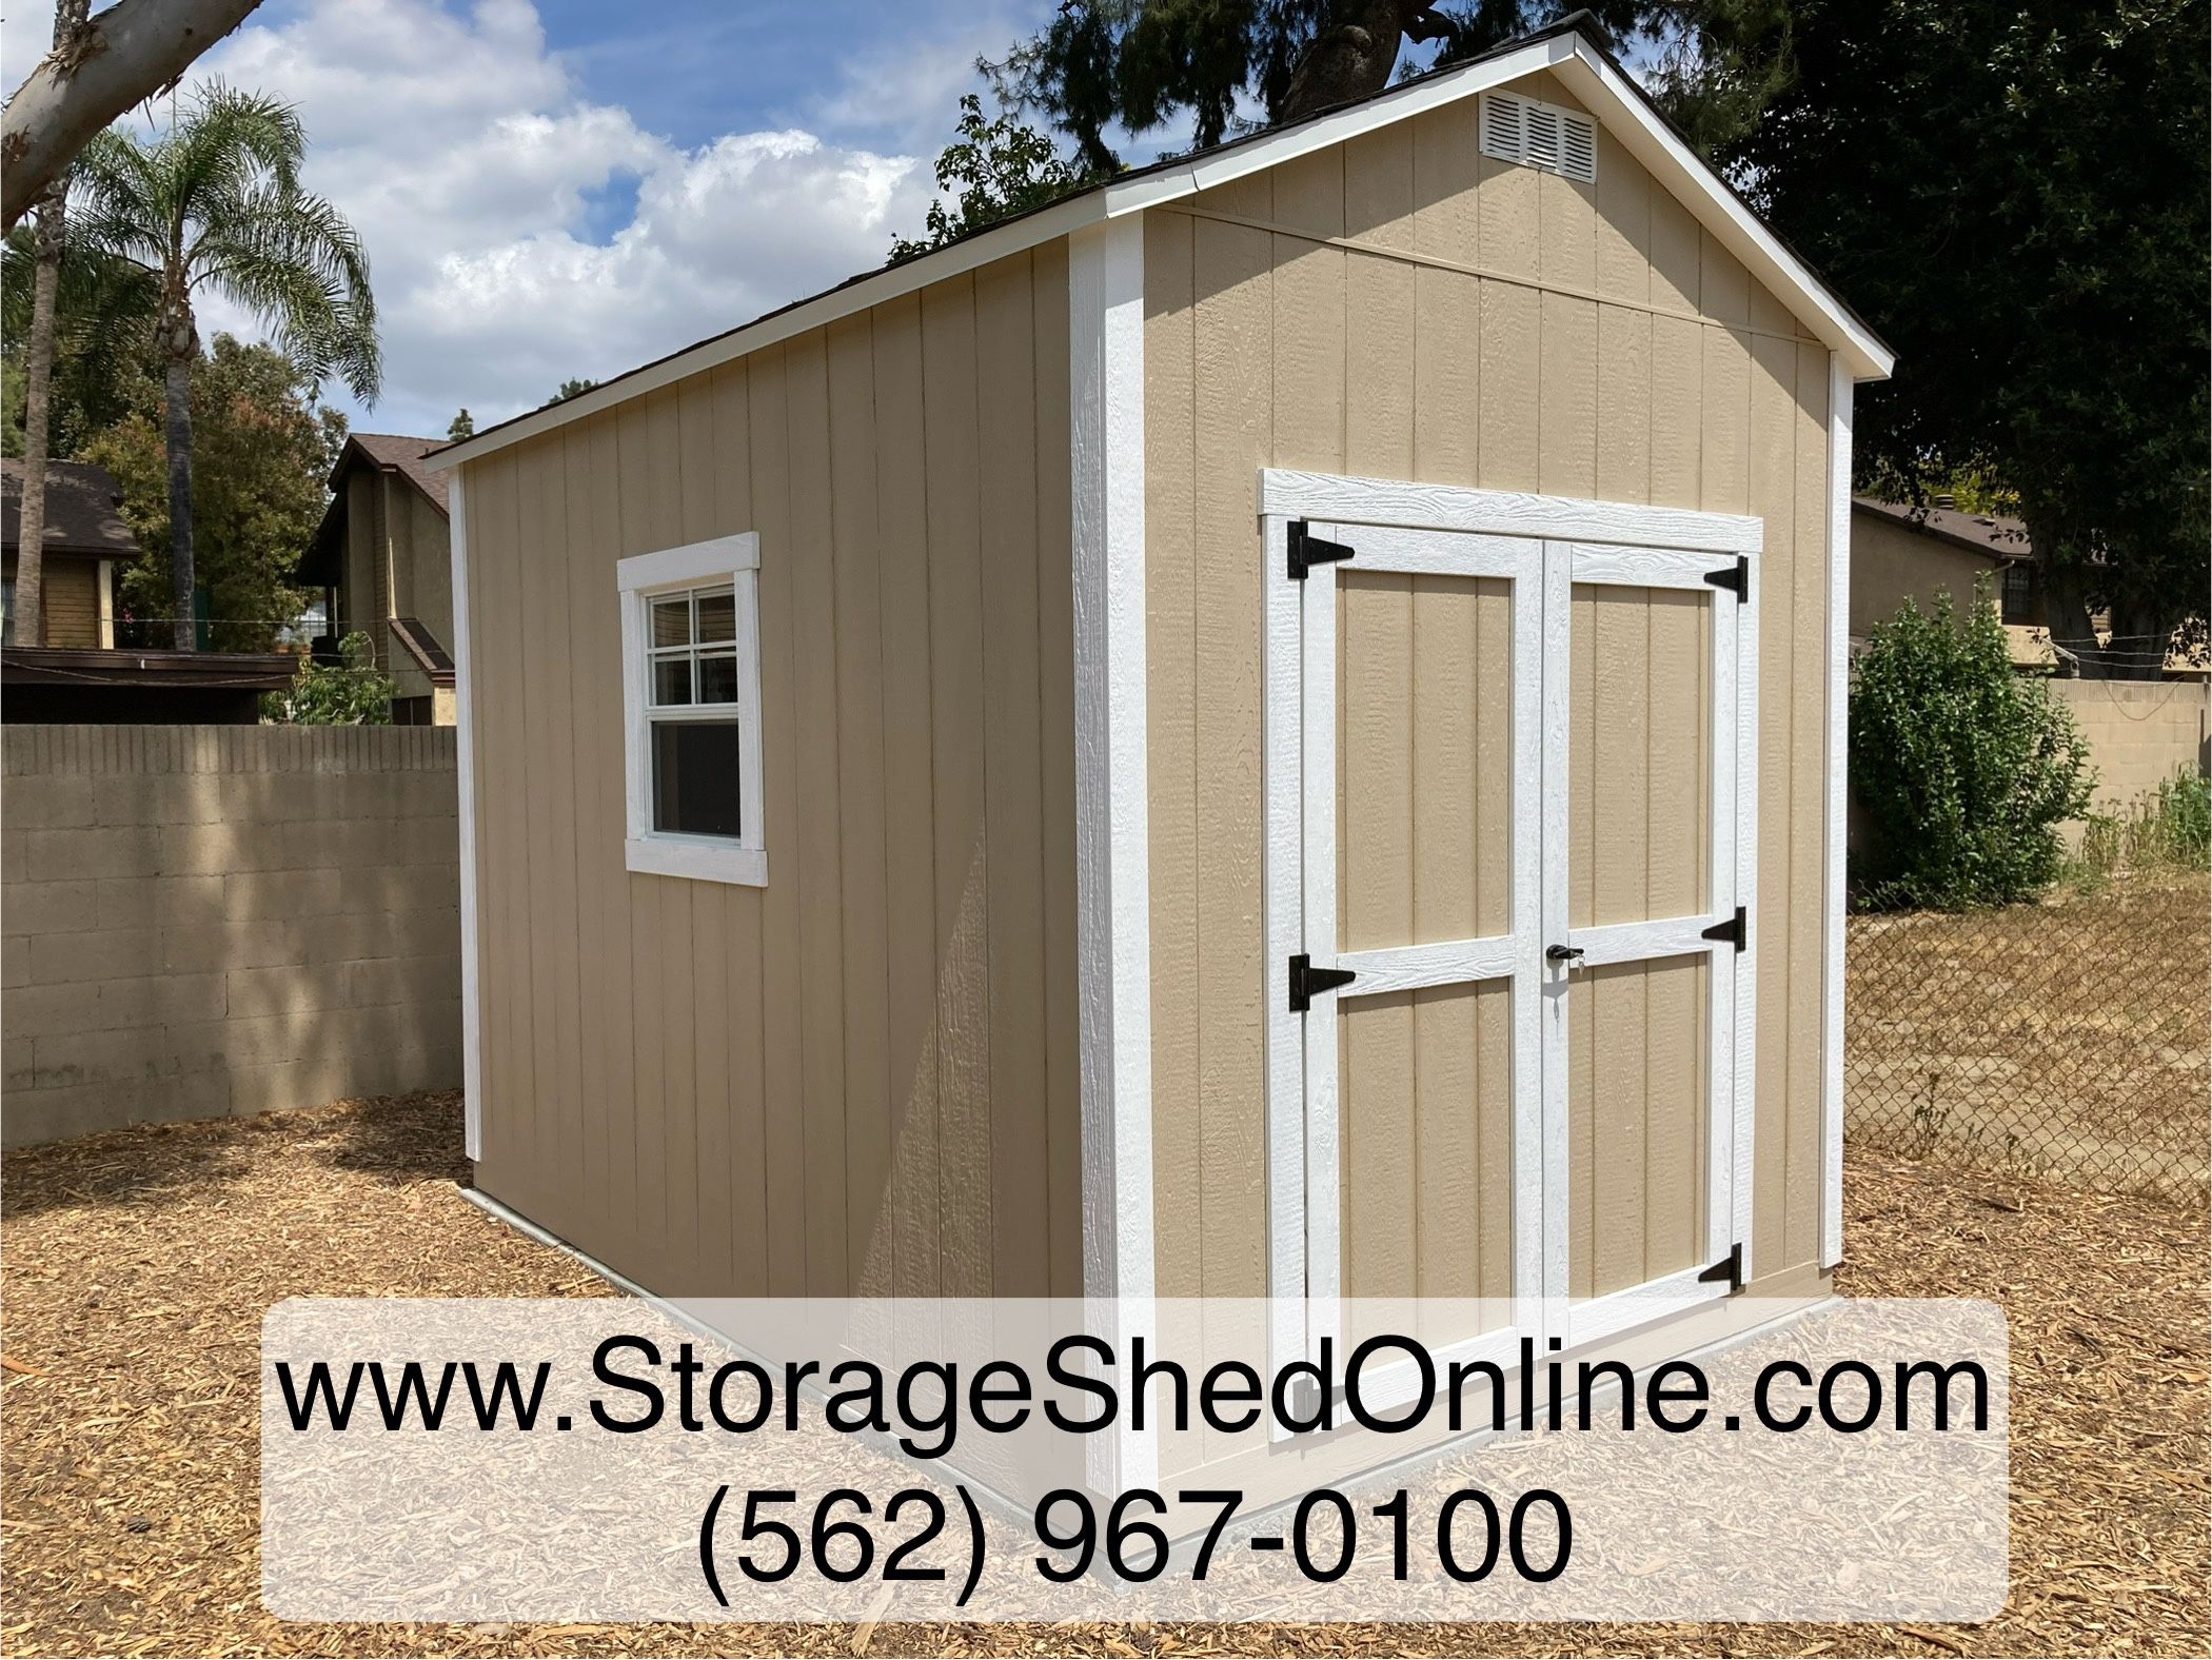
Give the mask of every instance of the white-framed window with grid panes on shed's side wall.
[(622, 560), (630, 870), (763, 885), (757, 536)]

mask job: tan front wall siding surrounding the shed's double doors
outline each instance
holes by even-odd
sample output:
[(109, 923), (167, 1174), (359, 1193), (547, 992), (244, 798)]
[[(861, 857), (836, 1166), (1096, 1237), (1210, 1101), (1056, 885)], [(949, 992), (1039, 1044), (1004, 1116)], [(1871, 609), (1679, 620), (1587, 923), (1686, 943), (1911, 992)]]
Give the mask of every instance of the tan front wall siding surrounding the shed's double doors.
[[(1573, 104), (1548, 82), (1528, 91)], [(1471, 113), (1458, 120), (1473, 131)], [(1781, 1177), (1794, 1158), (1818, 1173), (1818, 1073), (1790, 1054), (1796, 1023), (1801, 1051), (1818, 1056), (1818, 1023), (1805, 1014), (1818, 1005), (1818, 956), (1790, 945), (1787, 934), (1796, 916), (1807, 919), (1801, 934), (1816, 934), (1823, 905), (1818, 797), (1794, 790), (1792, 779), (1816, 777), (1823, 753), (1818, 715), (1794, 710), (1796, 677), (1823, 662), (1825, 649), (1818, 602), (1798, 600), (1825, 584), (1825, 525), (1803, 511), (1798, 489), (1825, 474), (1827, 438), (1825, 390), (1805, 385), (1796, 359), (1825, 363), (1825, 352), (1787, 339), (1798, 332), (1794, 319), (1608, 137), (1599, 139), (1597, 186), (1573, 186), (1473, 155), (1471, 144), (1449, 148), (1444, 115), (1427, 115), (1409, 133), (1314, 153), (1234, 190), (1203, 193), (1190, 204), (1194, 212), (1157, 210), (1146, 221), (1159, 1290), (1254, 1290), (1254, 1253), (1263, 1246), (1261, 1080), (1252, 1067), (1263, 1020), (1256, 894), (1241, 885), (1250, 845), (1239, 834), (1254, 795), (1237, 761), (1259, 755), (1259, 713), (1250, 706), (1261, 637), (1259, 540), (1250, 502), (1261, 465), (1436, 483), (1469, 483), (1471, 465), (1473, 483), (1491, 489), (1765, 516), (1754, 622), (1761, 888), (1745, 894), (1761, 941), (1756, 1270), (1807, 1268), (1816, 1255), (1816, 1195)], [(1394, 146), (1402, 170), (1383, 162)], [(1332, 170), (1345, 190), (1340, 230), (1332, 221)], [(1391, 179), (1411, 179), (1411, 197), (1387, 201)], [(1208, 210), (1265, 221), (1274, 235), (1197, 217)], [(1318, 246), (1296, 230), (1433, 255), (1526, 283), (1383, 261)], [(1400, 274), (1383, 277), (1385, 263)], [(1533, 286), (1544, 281), (1599, 299)], [(1391, 283), (1409, 288), (1409, 308), (1394, 310)], [(1391, 328), (1378, 319), (1400, 321)], [(1453, 361), (1455, 350), (1464, 361)], [(1754, 405), (1761, 350), (1794, 367), (1787, 398)], [(1336, 407), (1347, 412), (1340, 438), (1327, 421), (1336, 387)], [(1409, 421), (1396, 387), (1409, 387)], [(1754, 494), (1754, 429), (1792, 478), (1781, 500), (1765, 485), (1765, 460)], [(1683, 620), (1661, 611), (1648, 626), (1659, 629), (1663, 651), (1688, 649), (1668, 635)], [(1650, 673), (1639, 671), (1621, 695), (1648, 695)], [(1646, 817), (1674, 812), (1666, 790), (1679, 784), (1646, 777)], [(1679, 861), (1661, 861), (1648, 876), (1659, 892), (1686, 872)], [(1595, 892), (1586, 899), (1595, 903)], [(1701, 1009), (1701, 974), (1694, 965), (1637, 969), (1644, 1025), (1672, 1027), (1683, 1023), (1683, 1009)], [(1593, 1023), (1577, 1029), (1590, 1031)], [(1349, 1051), (1371, 1049), (1365, 1029), (1349, 1031)], [(1641, 1065), (1641, 1056), (1639, 1040), (1615, 1065)], [(1595, 1051), (1575, 1065), (1586, 1078)], [(1648, 1111), (1661, 1118), (1668, 1102), (1688, 1100), (1672, 1076), (1652, 1089), (1659, 1096)], [(1241, 1133), (1217, 1133), (1225, 1127)], [(1674, 1158), (1672, 1142), (1659, 1164), (1646, 1155), (1646, 1175), (1657, 1180)], [(1577, 1180), (1588, 1175), (1579, 1171)], [(1644, 1220), (1639, 1264), (1666, 1259), (1679, 1220)], [(1223, 1255), (1234, 1268), (1221, 1266)]]

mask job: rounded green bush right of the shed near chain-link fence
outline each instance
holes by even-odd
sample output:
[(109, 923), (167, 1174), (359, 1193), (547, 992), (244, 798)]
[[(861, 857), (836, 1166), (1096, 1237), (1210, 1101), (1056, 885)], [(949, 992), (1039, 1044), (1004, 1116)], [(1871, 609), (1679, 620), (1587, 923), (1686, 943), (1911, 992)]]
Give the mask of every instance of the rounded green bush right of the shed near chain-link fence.
[(1878, 622), (1851, 682), (1851, 788), (1874, 826), (1863, 896), (1966, 910), (2059, 874), (2057, 826), (2088, 808), (2088, 744), (2042, 679), (2013, 671), (1984, 598), (1938, 593)]

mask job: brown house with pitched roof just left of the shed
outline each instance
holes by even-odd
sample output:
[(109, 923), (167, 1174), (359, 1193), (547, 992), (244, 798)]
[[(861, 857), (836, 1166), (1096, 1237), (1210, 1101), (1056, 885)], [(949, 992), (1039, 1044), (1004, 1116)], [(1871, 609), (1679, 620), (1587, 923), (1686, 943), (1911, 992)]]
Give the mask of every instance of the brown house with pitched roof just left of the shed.
[(330, 469), (330, 509), (301, 562), (303, 587), (323, 589), (332, 657), (358, 629), (376, 666), (398, 682), (396, 726), (453, 724), (453, 567), (445, 476), (422, 465), (442, 438), (356, 432)]

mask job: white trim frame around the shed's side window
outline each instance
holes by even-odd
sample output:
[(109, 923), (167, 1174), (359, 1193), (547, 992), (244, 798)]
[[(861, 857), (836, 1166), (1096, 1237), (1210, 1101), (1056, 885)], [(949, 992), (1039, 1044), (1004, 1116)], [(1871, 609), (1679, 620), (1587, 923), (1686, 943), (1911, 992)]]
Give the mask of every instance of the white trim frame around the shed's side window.
[[(624, 863), (644, 876), (768, 885), (761, 803), (761, 538), (752, 531), (635, 553), (615, 564), (622, 593), (622, 759), (628, 834)], [(653, 653), (646, 604), (655, 593), (728, 582), (737, 611), (739, 834), (686, 837), (653, 828)]]

